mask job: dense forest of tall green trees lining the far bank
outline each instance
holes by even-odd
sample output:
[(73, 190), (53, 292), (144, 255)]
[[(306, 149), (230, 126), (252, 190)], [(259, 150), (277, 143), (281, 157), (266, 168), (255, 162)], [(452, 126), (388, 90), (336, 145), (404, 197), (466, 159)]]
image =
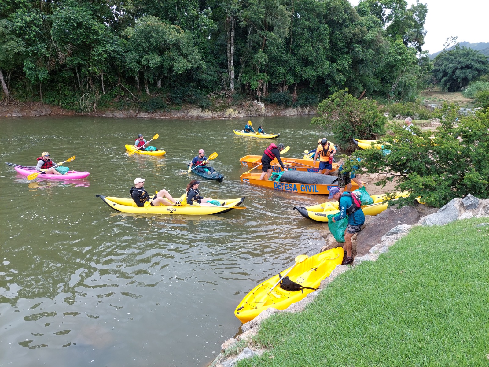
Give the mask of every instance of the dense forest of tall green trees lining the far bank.
[(409, 101), (431, 78), (426, 12), (406, 0), (2, 1), (3, 103), (297, 106), (344, 88)]

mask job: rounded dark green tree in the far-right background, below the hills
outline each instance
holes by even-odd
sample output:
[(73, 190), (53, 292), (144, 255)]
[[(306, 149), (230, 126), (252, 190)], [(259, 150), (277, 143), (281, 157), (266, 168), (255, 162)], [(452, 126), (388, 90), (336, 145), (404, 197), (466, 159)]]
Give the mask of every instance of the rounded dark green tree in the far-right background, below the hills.
[(446, 92), (458, 92), (489, 70), (487, 57), (472, 48), (443, 50), (433, 61), (433, 76)]

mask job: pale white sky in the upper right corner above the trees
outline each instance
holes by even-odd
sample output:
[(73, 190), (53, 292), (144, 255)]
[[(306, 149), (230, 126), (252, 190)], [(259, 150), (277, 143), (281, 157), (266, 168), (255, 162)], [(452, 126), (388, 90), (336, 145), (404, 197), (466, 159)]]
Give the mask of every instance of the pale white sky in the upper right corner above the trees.
[[(359, 0), (349, 0), (358, 5)], [(416, 0), (407, 0), (409, 6)], [(443, 49), (447, 37), (458, 42), (489, 42), (489, 0), (421, 0), (427, 4), (423, 50), (435, 53)]]

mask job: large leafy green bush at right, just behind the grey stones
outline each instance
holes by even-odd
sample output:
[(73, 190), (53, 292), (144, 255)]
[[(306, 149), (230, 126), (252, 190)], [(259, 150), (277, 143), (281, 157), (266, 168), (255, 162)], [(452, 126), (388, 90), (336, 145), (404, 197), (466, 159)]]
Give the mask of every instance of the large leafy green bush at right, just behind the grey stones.
[[(390, 143), (391, 153), (359, 151), (364, 158), (360, 164), (370, 173), (385, 174), (379, 184), (397, 178), (395, 191), (409, 191), (411, 198), (419, 196), (429, 206), (440, 207), (468, 193), (488, 198), (489, 114), (461, 116), (456, 105), (444, 103), (433, 115), (442, 117), (443, 125), (436, 132), (413, 127), (413, 135), (395, 129), (394, 136), (381, 140)], [(399, 199), (400, 204), (407, 202), (412, 199)]]

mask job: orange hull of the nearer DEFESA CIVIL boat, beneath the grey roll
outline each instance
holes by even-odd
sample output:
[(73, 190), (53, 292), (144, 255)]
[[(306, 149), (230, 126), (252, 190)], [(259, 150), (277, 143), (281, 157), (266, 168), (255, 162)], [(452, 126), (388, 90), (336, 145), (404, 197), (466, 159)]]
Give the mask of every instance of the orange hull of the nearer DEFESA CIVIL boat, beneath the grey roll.
[[(300, 184), (300, 183), (260, 180), (260, 175), (261, 175), (260, 173), (247, 172), (242, 174), (240, 176), (240, 179), (245, 184), (263, 186), (263, 187), (270, 188), (272, 190), (296, 192), (299, 194), (328, 195), (333, 187), (338, 187), (338, 180), (337, 177), (335, 176), (328, 176), (336, 179), (336, 180), (332, 179), (332, 184)], [(352, 190), (356, 190), (357, 188), (358, 185), (355, 182), (352, 182)]]

